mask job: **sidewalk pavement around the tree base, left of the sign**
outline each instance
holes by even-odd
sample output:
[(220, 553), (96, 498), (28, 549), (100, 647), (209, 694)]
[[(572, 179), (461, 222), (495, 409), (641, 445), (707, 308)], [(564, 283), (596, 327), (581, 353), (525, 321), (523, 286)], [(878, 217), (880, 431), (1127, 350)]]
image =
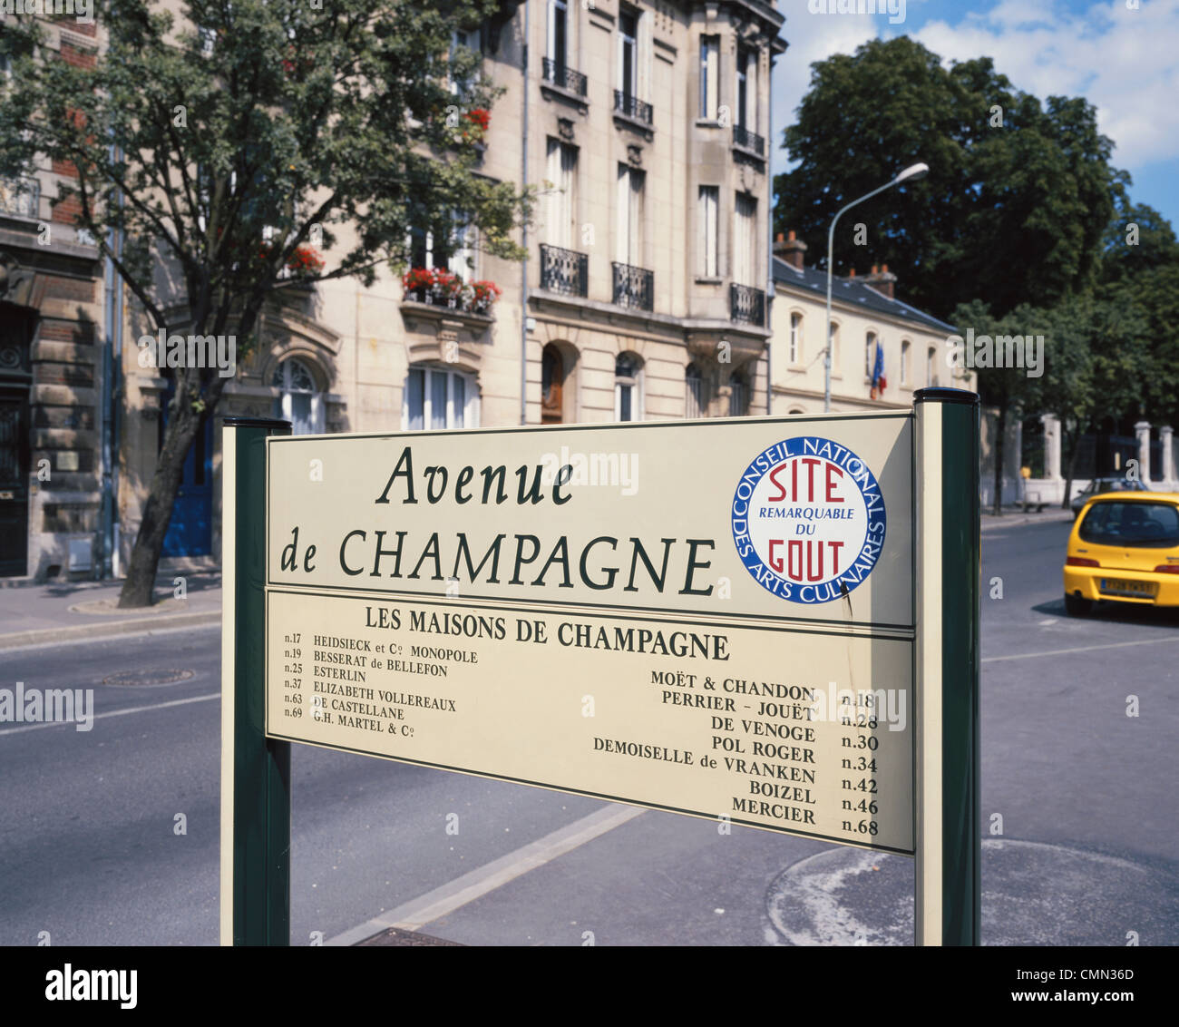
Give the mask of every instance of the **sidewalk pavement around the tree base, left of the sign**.
[[(184, 579), (183, 599), (176, 598), (176, 578)], [(220, 573), (216, 571), (162, 572), (156, 578), (154, 605), (140, 610), (118, 608), (123, 581), (19, 584), (0, 587), (0, 650), (220, 621)]]

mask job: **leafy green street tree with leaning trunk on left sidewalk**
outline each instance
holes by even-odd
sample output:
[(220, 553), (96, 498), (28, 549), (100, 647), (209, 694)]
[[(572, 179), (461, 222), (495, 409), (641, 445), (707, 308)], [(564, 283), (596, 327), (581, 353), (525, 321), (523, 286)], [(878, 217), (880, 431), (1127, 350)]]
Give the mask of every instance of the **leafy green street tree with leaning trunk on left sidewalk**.
[[(490, 252), (522, 256), (511, 232), (528, 198), (481, 176), (472, 145), (495, 92), (476, 55), (452, 45), (499, 7), (186, 0), (173, 18), (152, 0), (119, 0), (93, 67), (39, 48), (38, 20), (6, 24), (0, 175), (72, 165), (58, 202), (77, 198), (79, 226), (152, 334), (231, 335), (241, 366), (284, 290), (370, 285), (378, 269), (406, 265), (415, 226), (443, 213), (476, 226)], [(174, 370), (120, 606), (152, 601), (185, 456), (226, 381), (217, 368)]]

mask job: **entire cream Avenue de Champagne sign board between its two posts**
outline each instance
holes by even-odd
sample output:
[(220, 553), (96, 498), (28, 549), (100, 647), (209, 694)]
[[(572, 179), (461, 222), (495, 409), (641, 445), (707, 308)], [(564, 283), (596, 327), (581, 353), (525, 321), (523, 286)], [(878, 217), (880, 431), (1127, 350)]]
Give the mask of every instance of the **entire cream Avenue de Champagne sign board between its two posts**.
[(914, 851), (911, 413), (266, 447), (269, 737)]

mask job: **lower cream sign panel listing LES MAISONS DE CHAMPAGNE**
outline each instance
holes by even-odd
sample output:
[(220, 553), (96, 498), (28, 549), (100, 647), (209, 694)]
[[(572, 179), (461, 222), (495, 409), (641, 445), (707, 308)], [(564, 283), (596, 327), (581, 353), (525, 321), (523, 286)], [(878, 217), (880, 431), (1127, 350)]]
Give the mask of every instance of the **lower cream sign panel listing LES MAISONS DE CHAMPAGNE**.
[(266, 733), (913, 851), (913, 641), (268, 590)]

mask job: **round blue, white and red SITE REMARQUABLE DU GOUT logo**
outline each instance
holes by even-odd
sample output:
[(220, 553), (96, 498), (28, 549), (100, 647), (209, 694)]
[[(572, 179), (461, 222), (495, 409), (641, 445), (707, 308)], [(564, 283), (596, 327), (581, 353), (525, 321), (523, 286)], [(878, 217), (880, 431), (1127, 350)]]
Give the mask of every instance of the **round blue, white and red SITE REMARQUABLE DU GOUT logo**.
[(791, 603), (830, 603), (859, 585), (880, 558), (884, 522), (868, 465), (816, 435), (759, 453), (733, 493), (740, 561), (758, 585)]

